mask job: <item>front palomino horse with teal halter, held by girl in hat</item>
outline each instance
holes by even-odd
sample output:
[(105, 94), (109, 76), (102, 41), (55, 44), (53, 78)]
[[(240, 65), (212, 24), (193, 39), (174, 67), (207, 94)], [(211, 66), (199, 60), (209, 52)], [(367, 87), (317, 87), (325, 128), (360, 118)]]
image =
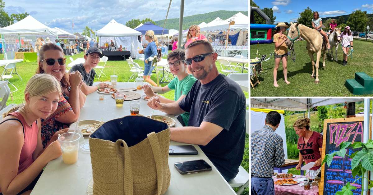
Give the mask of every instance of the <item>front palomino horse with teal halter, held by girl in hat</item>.
[[(290, 23), (291, 26), (289, 27), (289, 33), (288, 38), (290, 41), (286, 41), (287, 45), (291, 45), (299, 36), (304, 38), (304, 40), (307, 41), (307, 50), (308, 55), (311, 58), (312, 63), (312, 75), (311, 77), (315, 75), (315, 66), (316, 66), (316, 79), (315, 83), (319, 83), (319, 60), (321, 56), (321, 52), (323, 52), (323, 67), (325, 67), (325, 50), (323, 49), (323, 37), (320, 34), (319, 31), (316, 29), (308, 28), (307, 26), (299, 23)], [(313, 59), (313, 54), (316, 53), (316, 63)]]

